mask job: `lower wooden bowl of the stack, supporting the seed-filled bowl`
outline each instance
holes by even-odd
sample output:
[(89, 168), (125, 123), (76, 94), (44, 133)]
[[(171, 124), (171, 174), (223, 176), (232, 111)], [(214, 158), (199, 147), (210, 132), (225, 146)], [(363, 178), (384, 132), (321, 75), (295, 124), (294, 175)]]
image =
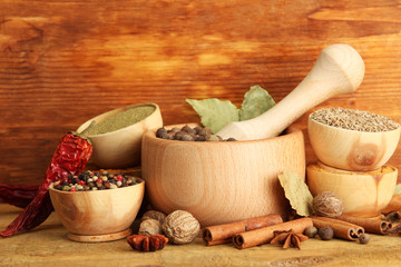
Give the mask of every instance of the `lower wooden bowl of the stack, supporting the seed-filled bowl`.
[(393, 194), (398, 170), (383, 166), (372, 171), (345, 171), (323, 165), (309, 165), (307, 186), (313, 196), (323, 191), (334, 192), (344, 206), (344, 214), (374, 217), (380, 215)]

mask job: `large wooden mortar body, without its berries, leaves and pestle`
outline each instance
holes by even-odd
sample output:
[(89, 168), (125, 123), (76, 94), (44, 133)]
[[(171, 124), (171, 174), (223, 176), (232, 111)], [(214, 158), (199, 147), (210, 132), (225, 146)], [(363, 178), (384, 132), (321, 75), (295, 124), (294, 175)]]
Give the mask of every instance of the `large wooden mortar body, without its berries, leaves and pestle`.
[(295, 128), (271, 139), (221, 142), (165, 140), (148, 131), (141, 171), (155, 209), (187, 210), (202, 226), (272, 212), (285, 217), (290, 205), (277, 175), (305, 177), (304, 138)]

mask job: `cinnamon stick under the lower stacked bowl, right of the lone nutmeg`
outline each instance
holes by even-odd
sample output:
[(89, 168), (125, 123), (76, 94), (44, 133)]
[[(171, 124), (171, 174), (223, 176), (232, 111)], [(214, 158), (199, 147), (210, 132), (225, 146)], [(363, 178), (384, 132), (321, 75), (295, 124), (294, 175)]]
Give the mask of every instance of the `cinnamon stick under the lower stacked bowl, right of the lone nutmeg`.
[(374, 218), (362, 218), (362, 217), (342, 215), (338, 217), (338, 219), (363, 227), (366, 233), (372, 233), (372, 234), (384, 235), (392, 227), (391, 222)]

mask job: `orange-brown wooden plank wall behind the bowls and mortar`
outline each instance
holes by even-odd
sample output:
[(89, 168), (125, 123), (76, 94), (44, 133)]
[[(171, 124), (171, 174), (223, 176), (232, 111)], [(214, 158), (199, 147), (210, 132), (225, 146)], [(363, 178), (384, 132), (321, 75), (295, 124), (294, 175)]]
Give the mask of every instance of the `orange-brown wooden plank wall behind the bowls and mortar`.
[[(198, 121), (186, 98), (239, 106), (261, 85), (280, 101), (338, 42), (361, 53), (365, 78), (316, 108), (401, 122), (397, 0), (2, 0), (0, 181), (38, 184), (65, 132), (117, 107), (156, 102), (169, 125)], [(306, 115), (296, 125), (306, 134)]]

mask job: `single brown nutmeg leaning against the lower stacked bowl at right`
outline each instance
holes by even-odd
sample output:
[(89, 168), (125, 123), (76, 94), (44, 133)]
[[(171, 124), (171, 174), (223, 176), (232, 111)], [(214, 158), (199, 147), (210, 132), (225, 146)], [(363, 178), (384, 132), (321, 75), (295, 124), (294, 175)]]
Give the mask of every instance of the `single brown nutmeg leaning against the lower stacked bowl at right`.
[(344, 207), (342, 200), (333, 192), (323, 191), (313, 198), (313, 211), (317, 216), (336, 218), (342, 215)]

